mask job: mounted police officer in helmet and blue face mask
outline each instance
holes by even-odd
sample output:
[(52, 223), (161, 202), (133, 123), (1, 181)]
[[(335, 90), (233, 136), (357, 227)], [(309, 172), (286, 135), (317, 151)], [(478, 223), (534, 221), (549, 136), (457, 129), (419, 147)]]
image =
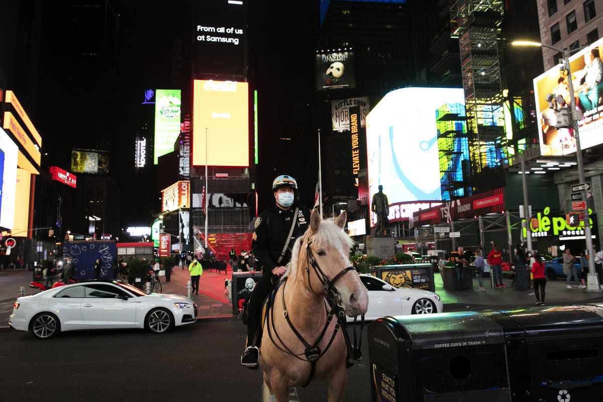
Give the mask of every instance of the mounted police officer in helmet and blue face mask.
[(251, 293), (247, 309), (247, 348), (241, 356), (241, 364), (250, 369), (257, 369), (259, 363), (259, 349), (254, 343), (262, 303), (273, 283), (285, 273), (295, 239), (306, 232), (311, 215), (308, 208), (298, 206), (297, 182), (291, 176), (280, 175), (274, 179), (272, 190), (276, 206), (257, 217), (251, 240), (257, 265), (262, 267), (262, 278)]

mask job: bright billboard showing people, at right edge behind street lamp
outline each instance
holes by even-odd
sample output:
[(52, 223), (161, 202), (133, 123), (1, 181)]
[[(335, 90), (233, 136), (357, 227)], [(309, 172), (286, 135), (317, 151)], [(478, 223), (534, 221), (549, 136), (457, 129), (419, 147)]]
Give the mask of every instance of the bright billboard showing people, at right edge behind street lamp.
[[(596, 86), (598, 81), (599, 85), (603, 86), (603, 80), (593, 78), (593, 73), (588, 72), (586, 68), (585, 57), (588, 58), (591, 51), (595, 52), (595, 55), (601, 55), (603, 53), (603, 38), (597, 40), (588, 48), (582, 49), (578, 53), (572, 55), (569, 58), (570, 69), (572, 71), (572, 84), (574, 90), (574, 97), (576, 100), (576, 107), (579, 107), (584, 113), (584, 120), (580, 124), (580, 145), (582, 149), (590, 148), (603, 142), (601, 136), (601, 130), (603, 128), (603, 102), (601, 100), (601, 90), (599, 90), (598, 99), (593, 99), (593, 92), (587, 88), (587, 93), (584, 93), (584, 85), (580, 84), (583, 82), (587, 87)], [(595, 57), (599, 60), (593, 60), (593, 66), (596, 64), (601, 65), (601, 58)], [(588, 60), (591, 62), (590, 59)], [(601, 72), (599, 71), (599, 77)], [(549, 102), (546, 101), (546, 95), (552, 93), (557, 98), (561, 95), (564, 102), (569, 104), (571, 96), (569, 93), (569, 82), (566, 72), (560, 71), (560, 65), (551, 68), (544, 74), (534, 78), (534, 96), (536, 98), (536, 113), (538, 116), (538, 133), (540, 134), (540, 153), (542, 155), (567, 155), (576, 151), (576, 140), (573, 134), (573, 128), (555, 128), (557, 124), (557, 118), (555, 118), (555, 112), (549, 108)]]

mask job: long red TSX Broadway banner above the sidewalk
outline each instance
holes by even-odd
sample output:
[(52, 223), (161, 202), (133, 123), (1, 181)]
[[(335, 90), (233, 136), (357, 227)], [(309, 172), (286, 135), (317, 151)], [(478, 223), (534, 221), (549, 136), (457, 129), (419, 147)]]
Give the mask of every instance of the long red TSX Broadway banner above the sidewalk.
[(473, 218), (505, 210), (505, 189), (491, 190), (442, 204), (412, 214), (410, 227), (448, 223), (461, 218)]

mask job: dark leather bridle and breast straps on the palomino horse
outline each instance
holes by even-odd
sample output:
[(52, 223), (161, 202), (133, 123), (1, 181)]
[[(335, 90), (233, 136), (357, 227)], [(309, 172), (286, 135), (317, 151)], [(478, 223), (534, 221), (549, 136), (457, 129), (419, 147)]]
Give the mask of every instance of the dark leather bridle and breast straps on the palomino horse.
[[(354, 344), (352, 344), (352, 342), (350, 342), (350, 336), (347, 333), (346, 307), (344, 307), (342, 305), (341, 296), (339, 295), (339, 291), (335, 287), (335, 282), (339, 278), (343, 277), (343, 275), (345, 275), (348, 271), (356, 271), (356, 268), (354, 268), (353, 266), (348, 266), (348, 267), (342, 269), (341, 271), (339, 271), (338, 274), (336, 274), (331, 280), (329, 280), (329, 278), (327, 278), (327, 275), (324, 274), (323, 270), (320, 269), (320, 266), (318, 266), (318, 262), (316, 261), (316, 259), (314, 257), (314, 253), (312, 253), (312, 250), (310, 248), (311, 244), (312, 244), (312, 239), (311, 239), (311, 237), (308, 237), (308, 241), (306, 242), (306, 273), (308, 274), (308, 284), (310, 286), (311, 291), (313, 293), (315, 293), (314, 289), (312, 288), (312, 281), (310, 280), (309, 267), (312, 266), (315, 274), (317, 275), (318, 280), (323, 285), (324, 290), (327, 292), (327, 298), (326, 298), (326, 301), (324, 304), (324, 307), (325, 307), (326, 313), (327, 313), (327, 320), (324, 324), (323, 330), (321, 331), (320, 335), (318, 336), (316, 341), (314, 341), (313, 344), (309, 344), (309, 342), (306, 341), (306, 339), (304, 339), (303, 336), (301, 336), (299, 331), (297, 331), (297, 329), (291, 322), (291, 319), (289, 319), (289, 314), (287, 312), (287, 307), (285, 305), (285, 287), (286, 287), (287, 278), (285, 278), (285, 281), (283, 281), (283, 292), (281, 294), (282, 305), (283, 305), (283, 317), (286, 319), (287, 324), (289, 325), (289, 328), (291, 328), (291, 330), (293, 331), (295, 336), (297, 336), (297, 339), (299, 339), (300, 342), (305, 346), (305, 348), (306, 348), (305, 351), (303, 353), (295, 354), (293, 351), (291, 351), (285, 345), (285, 342), (283, 342), (283, 340), (280, 338), (279, 334), (276, 331), (276, 326), (274, 325), (274, 307), (270, 309), (271, 324), (272, 324), (272, 327), (274, 330), (274, 334), (276, 335), (277, 339), (279, 339), (279, 342), (283, 347), (280, 347), (279, 345), (277, 345), (276, 342), (274, 342), (272, 333), (270, 331), (270, 322), (268, 322), (268, 336), (270, 336), (270, 340), (273, 342), (274, 346), (276, 346), (283, 353), (294, 356), (296, 359), (311, 363), (310, 377), (308, 378), (308, 381), (303, 385), (304, 387), (307, 386), (312, 381), (312, 378), (314, 378), (314, 373), (316, 371), (316, 363), (317, 363), (318, 359), (320, 359), (320, 357), (323, 356), (327, 350), (329, 350), (329, 347), (333, 343), (333, 340), (335, 339), (335, 336), (337, 334), (337, 331), (339, 330), (339, 327), (343, 327), (342, 333), (343, 333), (344, 341), (346, 342), (346, 349), (347, 349), (346, 366), (348, 368), (350, 368), (354, 363), (356, 363), (360, 359), (362, 359), (362, 353), (361, 353), (360, 349), (361, 349), (361, 344), (362, 344), (362, 338), (361, 338), (362, 328), (364, 328), (364, 314), (362, 314), (361, 315), (361, 327), (360, 327), (360, 331), (358, 333), (359, 342), (358, 342), (358, 344), (356, 344), (356, 327), (354, 327)], [(275, 290), (275, 292), (276, 292), (276, 290)], [(327, 306), (327, 303), (330, 306), (330, 310), (329, 310), (329, 306)], [(337, 319), (337, 321), (335, 322), (335, 328), (333, 329), (333, 334), (331, 335), (331, 338), (330, 338), (329, 343), (327, 344), (326, 348), (324, 348), (324, 350), (321, 351), (320, 347), (318, 347), (318, 344), (320, 344), (320, 341), (323, 339), (324, 334), (326, 333), (327, 328), (329, 327), (329, 324), (332, 321), (333, 315), (335, 315), (336, 319)], [(357, 319), (357, 317), (354, 317), (354, 324), (356, 324), (356, 319)], [(266, 316), (266, 320), (268, 321), (268, 315)], [(305, 359), (300, 356), (304, 356)]]

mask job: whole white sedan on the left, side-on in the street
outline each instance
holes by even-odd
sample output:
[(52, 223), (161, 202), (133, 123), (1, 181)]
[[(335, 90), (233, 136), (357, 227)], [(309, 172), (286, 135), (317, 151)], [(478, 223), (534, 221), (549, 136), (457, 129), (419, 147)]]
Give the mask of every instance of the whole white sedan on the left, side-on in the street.
[(164, 333), (197, 320), (197, 304), (178, 295), (150, 294), (121, 281), (88, 281), (17, 298), (8, 325), (40, 339), (60, 331), (147, 328)]

